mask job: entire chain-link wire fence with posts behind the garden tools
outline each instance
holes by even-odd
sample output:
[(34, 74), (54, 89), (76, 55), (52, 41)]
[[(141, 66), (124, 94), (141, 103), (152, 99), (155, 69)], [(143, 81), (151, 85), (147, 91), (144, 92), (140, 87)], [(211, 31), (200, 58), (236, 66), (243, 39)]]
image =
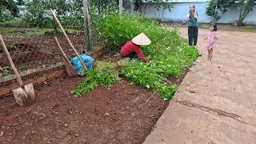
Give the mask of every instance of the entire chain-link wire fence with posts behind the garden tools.
[[(62, 30), (54, 21), (50, 9), (54, 10), (78, 53), (81, 54), (84, 50), (89, 54), (105, 45), (98, 31), (98, 23), (105, 14), (119, 12), (130, 14), (134, 11), (134, 2), (130, 0), (92, 0), (90, 3), (88, 0), (0, 1), (0, 34), (20, 74), (31, 75), (37, 71), (49, 71), (54, 66), (63, 66), (62, 56), (54, 41), (55, 36), (67, 57), (71, 58), (74, 55)], [(13, 78), (11, 82), (10, 76)], [(23, 80), (28, 79), (23, 78)], [(14, 71), (6, 54), (3, 53), (2, 45), (0, 45), (0, 82), (0, 89), (15, 82)]]

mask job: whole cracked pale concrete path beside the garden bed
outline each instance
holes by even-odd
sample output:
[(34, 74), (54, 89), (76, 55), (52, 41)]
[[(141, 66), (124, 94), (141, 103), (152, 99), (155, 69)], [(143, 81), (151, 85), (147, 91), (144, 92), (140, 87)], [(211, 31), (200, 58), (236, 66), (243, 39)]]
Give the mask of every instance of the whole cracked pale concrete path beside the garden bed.
[(212, 64), (207, 34), (199, 30), (202, 57), (144, 144), (256, 143), (256, 33), (218, 31)]

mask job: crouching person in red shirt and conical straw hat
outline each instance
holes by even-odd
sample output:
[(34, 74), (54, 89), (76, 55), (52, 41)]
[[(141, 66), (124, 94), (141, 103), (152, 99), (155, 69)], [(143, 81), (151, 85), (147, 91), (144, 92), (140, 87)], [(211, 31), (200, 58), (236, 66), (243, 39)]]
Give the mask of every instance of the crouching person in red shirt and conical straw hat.
[(137, 58), (139, 57), (144, 62), (150, 62), (142, 54), (141, 46), (150, 45), (150, 38), (147, 38), (145, 34), (138, 34), (131, 41), (126, 42), (124, 46), (121, 47), (120, 55), (122, 57)]

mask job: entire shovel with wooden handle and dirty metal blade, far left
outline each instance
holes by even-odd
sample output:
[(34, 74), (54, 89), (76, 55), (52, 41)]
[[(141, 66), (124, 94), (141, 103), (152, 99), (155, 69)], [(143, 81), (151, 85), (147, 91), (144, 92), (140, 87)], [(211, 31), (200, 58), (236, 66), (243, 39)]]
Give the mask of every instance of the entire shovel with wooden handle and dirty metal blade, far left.
[(2, 44), (2, 48), (8, 58), (8, 61), (10, 62), (10, 66), (13, 68), (16, 80), (18, 82), (18, 85), (21, 86), (18, 89), (12, 90), (14, 94), (14, 98), (18, 105), (20, 106), (28, 106), (34, 102), (34, 86), (33, 83), (30, 83), (26, 86), (24, 86), (22, 82), (22, 78), (19, 76), (18, 71), (16, 67), (14, 66), (13, 60), (10, 58), (10, 54), (6, 48), (5, 42), (3, 42), (2, 35), (0, 34), (0, 41)]

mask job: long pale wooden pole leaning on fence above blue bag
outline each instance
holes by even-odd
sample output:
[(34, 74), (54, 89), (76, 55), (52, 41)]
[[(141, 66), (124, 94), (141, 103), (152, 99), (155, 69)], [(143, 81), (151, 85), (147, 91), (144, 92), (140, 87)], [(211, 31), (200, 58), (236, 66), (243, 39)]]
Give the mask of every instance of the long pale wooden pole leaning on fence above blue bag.
[(54, 11), (53, 11), (52, 9), (50, 9), (50, 12), (51, 12), (51, 14), (53, 15), (55, 21), (58, 23), (58, 26), (62, 29), (62, 32), (63, 32), (63, 34), (64, 34), (64, 36), (65, 36), (67, 42), (69, 42), (71, 48), (74, 50), (74, 54), (76, 54), (76, 56), (78, 57), (79, 61), (82, 63), (82, 67), (83, 67), (85, 70), (87, 70), (86, 65), (82, 62), (82, 59), (80, 58), (80, 56), (79, 56), (79, 54), (78, 54), (78, 51), (74, 49), (74, 46), (73, 46), (72, 42), (70, 41), (70, 38), (67, 36), (65, 30), (64, 30), (63, 27), (62, 27), (62, 24), (58, 21), (58, 18), (57, 18), (56, 15), (54, 14)]

